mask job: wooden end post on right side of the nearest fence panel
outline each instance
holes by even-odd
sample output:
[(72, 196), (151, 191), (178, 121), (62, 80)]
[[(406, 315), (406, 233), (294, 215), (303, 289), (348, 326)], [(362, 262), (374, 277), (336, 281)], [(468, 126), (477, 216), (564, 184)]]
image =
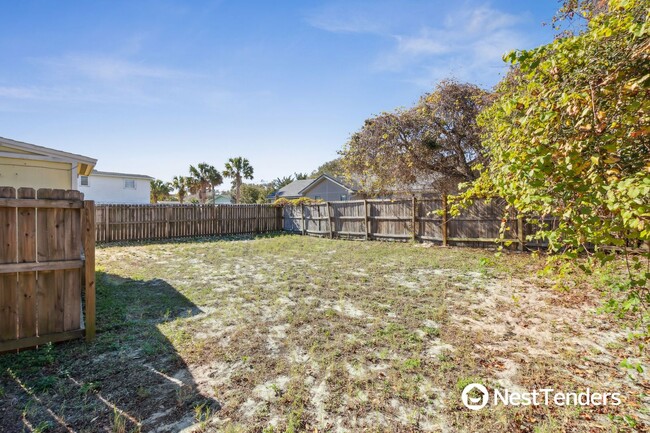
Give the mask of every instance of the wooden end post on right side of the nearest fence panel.
[(95, 202), (85, 200), (83, 213), (86, 341), (92, 341), (95, 338)]

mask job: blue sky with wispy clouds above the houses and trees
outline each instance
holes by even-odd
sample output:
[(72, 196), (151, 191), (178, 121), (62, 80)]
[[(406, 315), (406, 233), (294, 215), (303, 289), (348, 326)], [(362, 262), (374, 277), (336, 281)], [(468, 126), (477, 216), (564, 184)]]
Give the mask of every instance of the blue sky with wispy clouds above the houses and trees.
[(170, 180), (244, 156), (310, 172), (445, 77), (493, 86), (550, 42), (539, 1), (0, 3), (0, 136)]

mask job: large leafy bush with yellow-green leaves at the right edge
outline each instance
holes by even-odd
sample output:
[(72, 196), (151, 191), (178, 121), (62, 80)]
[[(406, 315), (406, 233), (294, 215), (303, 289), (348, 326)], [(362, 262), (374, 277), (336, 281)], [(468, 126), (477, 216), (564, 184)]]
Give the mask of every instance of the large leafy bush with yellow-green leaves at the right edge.
[(523, 214), (555, 218), (535, 235), (549, 241), (550, 264), (590, 272), (622, 253), (625, 295), (608, 309), (641, 313), (646, 332), (649, 45), (647, 1), (610, 0), (581, 34), (508, 54), (514, 67), (478, 119), (490, 162), (463, 195), (497, 195)]

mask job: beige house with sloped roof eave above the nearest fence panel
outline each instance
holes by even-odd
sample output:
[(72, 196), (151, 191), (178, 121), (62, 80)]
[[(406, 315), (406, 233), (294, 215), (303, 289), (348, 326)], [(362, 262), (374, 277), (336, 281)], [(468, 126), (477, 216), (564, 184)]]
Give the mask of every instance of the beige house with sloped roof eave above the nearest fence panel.
[(0, 137), (0, 186), (77, 189), (96, 159)]

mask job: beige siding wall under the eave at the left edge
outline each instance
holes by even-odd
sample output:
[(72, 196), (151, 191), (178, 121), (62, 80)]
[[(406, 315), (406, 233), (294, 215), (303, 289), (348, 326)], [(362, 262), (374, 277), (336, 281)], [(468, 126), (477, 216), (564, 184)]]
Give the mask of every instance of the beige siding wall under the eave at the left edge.
[(0, 157), (0, 186), (77, 189), (72, 164)]

